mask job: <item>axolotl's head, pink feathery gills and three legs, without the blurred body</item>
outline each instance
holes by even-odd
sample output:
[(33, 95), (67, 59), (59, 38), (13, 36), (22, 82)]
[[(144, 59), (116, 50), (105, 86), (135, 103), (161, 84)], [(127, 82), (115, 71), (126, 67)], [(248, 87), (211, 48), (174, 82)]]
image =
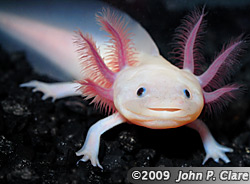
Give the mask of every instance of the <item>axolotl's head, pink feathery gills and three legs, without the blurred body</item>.
[(99, 53), (90, 34), (76, 31), (82, 79), (56, 84), (30, 81), (21, 87), (34, 87), (34, 91), (44, 93), (43, 99), (82, 95), (112, 113), (90, 127), (84, 145), (76, 152), (77, 156), (83, 156), (80, 161), (90, 160), (93, 166), (102, 168), (98, 160), (101, 135), (124, 122), (151, 129), (186, 125), (200, 134), (206, 151), (203, 164), (209, 158), (228, 163), (225, 153), (233, 149), (217, 143), (199, 116), (204, 107), (210, 111), (220, 110), (240, 91), (240, 85), (226, 83), (245, 41), (242, 36), (232, 40), (205, 72), (196, 75), (202, 59), (200, 40), (204, 16), (204, 9), (194, 11), (177, 29), (173, 50), (180, 61), (177, 67), (160, 54), (136, 50), (133, 44), (136, 35), (129, 31), (125, 19), (104, 9), (96, 18), (110, 39), (105, 57)]

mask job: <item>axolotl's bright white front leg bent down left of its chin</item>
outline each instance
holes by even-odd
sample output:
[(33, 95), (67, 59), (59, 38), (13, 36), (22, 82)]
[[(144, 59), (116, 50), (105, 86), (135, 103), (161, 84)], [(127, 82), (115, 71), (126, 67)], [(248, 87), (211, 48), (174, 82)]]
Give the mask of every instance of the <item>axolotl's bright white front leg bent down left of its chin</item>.
[(83, 155), (82, 159), (79, 161), (86, 162), (90, 160), (93, 166), (102, 168), (98, 160), (100, 137), (107, 130), (123, 122), (126, 122), (126, 119), (117, 112), (92, 125), (88, 131), (84, 145), (78, 152), (76, 152), (77, 156)]

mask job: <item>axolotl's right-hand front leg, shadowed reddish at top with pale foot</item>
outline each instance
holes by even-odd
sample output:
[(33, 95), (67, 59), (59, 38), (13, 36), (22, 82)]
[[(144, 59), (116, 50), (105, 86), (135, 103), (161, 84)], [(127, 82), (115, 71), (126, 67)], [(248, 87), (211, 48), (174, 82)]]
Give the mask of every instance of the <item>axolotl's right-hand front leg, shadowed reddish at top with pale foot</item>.
[(201, 136), (202, 143), (206, 151), (206, 157), (202, 162), (203, 165), (209, 158), (212, 158), (217, 163), (219, 162), (219, 159), (222, 159), (225, 163), (230, 162), (225, 152), (233, 152), (233, 149), (220, 145), (214, 139), (208, 127), (205, 125), (203, 121), (197, 119), (192, 123), (187, 124), (186, 126), (198, 131)]

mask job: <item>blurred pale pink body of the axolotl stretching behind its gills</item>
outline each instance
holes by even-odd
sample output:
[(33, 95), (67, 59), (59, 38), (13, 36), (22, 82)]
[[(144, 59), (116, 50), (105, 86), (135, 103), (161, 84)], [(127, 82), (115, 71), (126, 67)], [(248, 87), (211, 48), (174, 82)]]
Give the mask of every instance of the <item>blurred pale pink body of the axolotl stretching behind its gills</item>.
[(79, 63), (75, 62), (78, 57), (72, 44), (72, 32), (5, 12), (0, 12), (0, 29), (32, 47), (45, 58), (53, 60), (53, 64), (67, 74), (74, 78), (80, 77)]

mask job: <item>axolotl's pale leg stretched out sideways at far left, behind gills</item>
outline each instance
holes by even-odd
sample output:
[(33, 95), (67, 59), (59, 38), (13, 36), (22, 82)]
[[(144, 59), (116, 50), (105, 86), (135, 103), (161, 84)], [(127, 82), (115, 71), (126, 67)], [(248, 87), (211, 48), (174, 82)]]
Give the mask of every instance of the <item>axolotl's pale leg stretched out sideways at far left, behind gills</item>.
[(40, 91), (44, 95), (42, 97), (43, 100), (52, 97), (52, 101), (54, 102), (56, 99), (69, 97), (69, 96), (80, 96), (82, 93), (77, 91), (79, 88), (78, 83), (74, 82), (57, 82), (57, 83), (44, 83), (40, 81), (30, 81), (27, 83), (23, 83), (20, 87), (30, 87), (34, 88), (33, 92)]

